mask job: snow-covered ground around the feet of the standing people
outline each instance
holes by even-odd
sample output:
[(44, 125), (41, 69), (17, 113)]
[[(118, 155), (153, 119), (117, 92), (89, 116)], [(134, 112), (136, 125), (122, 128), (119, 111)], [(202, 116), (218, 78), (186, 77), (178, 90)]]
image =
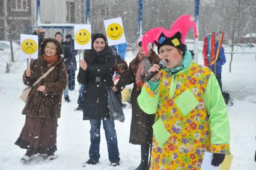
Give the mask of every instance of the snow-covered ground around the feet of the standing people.
[[(22, 87), (21, 74), (13, 76), (16, 83)], [(48, 161), (41, 156), (29, 161), (20, 162), (25, 150), (20, 149), (14, 142), (25, 122), (25, 116), (20, 114), (24, 103), (19, 99), (22, 88), (12, 88), (12, 84), (0, 86), (0, 169), (135, 169), (140, 162), (139, 145), (129, 144), (131, 109), (124, 110), (124, 123), (116, 121), (118, 146), (121, 165), (111, 167), (108, 160), (105, 133), (102, 130), (100, 143), (100, 163), (82, 168), (82, 162), (88, 159), (90, 145), (90, 124), (82, 120), (82, 112), (73, 111), (76, 106), (78, 91), (70, 92), (71, 103), (62, 103), (61, 118), (58, 120), (58, 137), (56, 151), (57, 159)], [(78, 87), (76, 87), (78, 88)], [(231, 152), (234, 160), (232, 170), (256, 169), (254, 154), (256, 150), (256, 96), (244, 100), (234, 100), (234, 105), (228, 107), (231, 125)]]

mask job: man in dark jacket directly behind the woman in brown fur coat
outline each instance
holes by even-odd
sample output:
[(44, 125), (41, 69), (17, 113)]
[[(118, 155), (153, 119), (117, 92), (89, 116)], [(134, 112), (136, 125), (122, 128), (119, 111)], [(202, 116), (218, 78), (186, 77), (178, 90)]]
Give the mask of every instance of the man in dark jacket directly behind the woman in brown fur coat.
[[(69, 46), (66, 46), (65, 43), (63, 42), (62, 40), (62, 34), (61, 32), (56, 32), (55, 33), (55, 39), (59, 41), (59, 43), (61, 43), (61, 46), (62, 46), (62, 50), (63, 50), (63, 54), (64, 54), (64, 58), (63, 58), (63, 61), (64, 63), (66, 64), (66, 68), (67, 70), (68, 67), (69, 67), (69, 63), (72, 59), (72, 52), (70, 50), (70, 47)], [(68, 82), (70, 80), (68, 79)], [(65, 99), (65, 102), (70, 102), (70, 99), (69, 99), (69, 87), (67, 86), (66, 89), (64, 90), (64, 99)]]

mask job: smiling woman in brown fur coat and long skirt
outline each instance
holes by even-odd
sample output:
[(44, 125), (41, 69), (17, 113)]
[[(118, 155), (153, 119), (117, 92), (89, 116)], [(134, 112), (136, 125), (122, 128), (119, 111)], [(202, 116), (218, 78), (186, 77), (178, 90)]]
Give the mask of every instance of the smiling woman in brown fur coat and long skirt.
[(56, 159), (56, 132), (62, 93), (67, 86), (67, 70), (57, 40), (47, 38), (40, 50), (42, 55), (31, 61), (23, 74), (24, 84), (31, 86), (49, 68), (55, 68), (32, 88), (22, 111), (26, 115), (25, 125), (15, 144), (26, 149), (23, 161), (32, 159), (37, 153), (47, 154), (49, 160)]

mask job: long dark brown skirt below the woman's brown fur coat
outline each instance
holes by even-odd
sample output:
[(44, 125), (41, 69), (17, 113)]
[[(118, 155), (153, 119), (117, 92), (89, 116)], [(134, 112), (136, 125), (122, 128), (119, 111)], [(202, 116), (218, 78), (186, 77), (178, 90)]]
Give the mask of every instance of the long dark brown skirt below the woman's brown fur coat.
[(32, 154), (53, 154), (57, 150), (57, 119), (32, 118), (26, 116), (25, 125), (15, 142), (20, 148)]

